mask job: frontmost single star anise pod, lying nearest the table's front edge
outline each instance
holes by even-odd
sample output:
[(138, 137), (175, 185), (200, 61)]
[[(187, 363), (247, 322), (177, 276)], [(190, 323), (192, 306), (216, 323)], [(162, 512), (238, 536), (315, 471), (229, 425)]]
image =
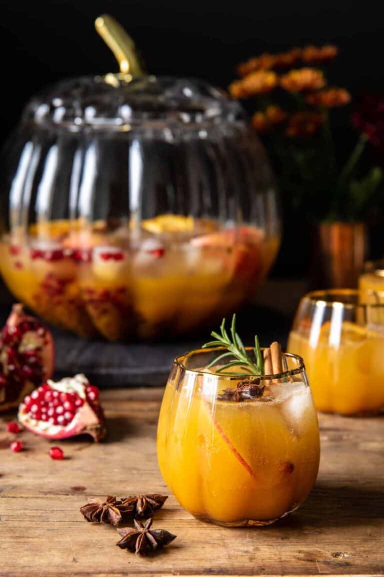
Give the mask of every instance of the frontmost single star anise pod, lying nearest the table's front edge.
[(116, 545), (121, 549), (129, 549), (132, 553), (145, 556), (176, 539), (176, 535), (169, 531), (151, 529), (152, 519), (147, 519), (145, 524), (135, 519), (134, 524), (134, 529), (117, 529), (121, 539)]

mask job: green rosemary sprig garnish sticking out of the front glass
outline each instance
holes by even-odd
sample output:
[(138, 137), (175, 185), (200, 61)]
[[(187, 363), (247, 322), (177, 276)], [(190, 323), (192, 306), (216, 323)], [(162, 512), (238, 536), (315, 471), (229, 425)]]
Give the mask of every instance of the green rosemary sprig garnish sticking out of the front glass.
[[(264, 358), (261, 354), (260, 344), (258, 342), (258, 337), (255, 335), (254, 337), (254, 357), (256, 358), (256, 362), (253, 362), (252, 359), (249, 358), (248, 354), (246, 353), (244, 344), (242, 343), (241, 338), (236, 332), (236, 315), (234, 314), (232, 317), (231, 329), (230, 329), (230, 336), (228, 335), (226, 328), (225, 328), (225, 319), (222, 320), (222, 324), (220, 325), (220, 335), (212, 331), (211, 336), (215, 340), (211, 340), (211, 342), (203, 344), (201, 347), (202, 349), (208, 349), (211, 347), (223, 347), (227, 349), (226, 353), (223, 353), (216, 357), (209, 365), (207, 365), (207, 369), (211, 368), (211, 366), (216, 365), (219, 361), (226, 357), (234, 357), (232, 361), (229, 361), (226, 365), (220, 366), (218, 369), (215, 370), (217, 374), (226, 374), (229, 376), (234, 377), (241, 377), (244, 374), (254, 374), (254, 375), (262, 375), (264, 374)], [(244, 372), (239, 371), (229, 371), (233, 366), (239, 366)]]

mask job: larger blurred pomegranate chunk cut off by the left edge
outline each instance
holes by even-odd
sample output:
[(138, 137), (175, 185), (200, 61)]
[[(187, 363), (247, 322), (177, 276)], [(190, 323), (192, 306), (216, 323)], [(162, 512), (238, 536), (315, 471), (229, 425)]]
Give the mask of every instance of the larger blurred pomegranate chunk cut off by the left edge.
[(17, 407), (26, 394), (44, 383), (54, 371), (51, 332), (20, 304), (0, 335), (0, 411)]

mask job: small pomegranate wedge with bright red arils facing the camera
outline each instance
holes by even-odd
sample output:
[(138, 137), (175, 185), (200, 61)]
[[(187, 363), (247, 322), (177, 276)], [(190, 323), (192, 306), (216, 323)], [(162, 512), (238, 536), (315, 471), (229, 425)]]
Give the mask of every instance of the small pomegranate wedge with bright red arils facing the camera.
[(48, 439), (89, 434), (100, 441), (105, 436), (98, 388), (83, 374), (57, 383), (48, 380), (35, 389), (20, 404), (18, 420), (26, 429)]

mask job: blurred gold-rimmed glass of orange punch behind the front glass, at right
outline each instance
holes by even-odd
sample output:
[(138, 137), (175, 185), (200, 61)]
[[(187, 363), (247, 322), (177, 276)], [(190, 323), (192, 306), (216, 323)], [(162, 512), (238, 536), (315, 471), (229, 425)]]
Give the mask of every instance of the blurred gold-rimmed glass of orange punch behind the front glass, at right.
[(315, 406), (345, 415), (384, 409), (384, 304), (375, 291), (302, 298), (288, 351), (306, 363)]

